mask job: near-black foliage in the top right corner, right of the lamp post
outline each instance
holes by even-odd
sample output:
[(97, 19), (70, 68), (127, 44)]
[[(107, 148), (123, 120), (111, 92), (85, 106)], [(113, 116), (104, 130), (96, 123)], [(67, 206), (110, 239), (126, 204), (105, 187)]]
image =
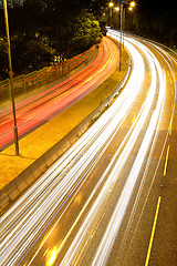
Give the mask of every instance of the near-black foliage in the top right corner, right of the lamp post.
[[(177, 48), (177, 16), (174, 2), (159, 0), (136, 0), (133, 11), (126, 9), (125, 30)], [(114, 17), (114, 27), (119, 28), (119, 19)]]

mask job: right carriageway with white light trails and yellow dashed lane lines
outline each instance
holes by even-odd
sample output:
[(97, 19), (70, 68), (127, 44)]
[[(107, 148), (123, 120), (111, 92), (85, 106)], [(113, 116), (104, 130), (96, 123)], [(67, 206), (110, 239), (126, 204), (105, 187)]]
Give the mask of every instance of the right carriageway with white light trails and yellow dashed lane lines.
[(176, 265), (177, 59), (125, 48), (122, 93), (1, 216), (2, 265)]

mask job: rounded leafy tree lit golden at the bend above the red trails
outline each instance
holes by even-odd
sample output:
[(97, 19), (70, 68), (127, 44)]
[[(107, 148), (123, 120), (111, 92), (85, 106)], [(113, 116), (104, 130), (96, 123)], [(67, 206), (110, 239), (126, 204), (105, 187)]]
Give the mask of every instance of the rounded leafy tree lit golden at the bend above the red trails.
[[(53, 34), (53, 31), (51, 33)], [(56, 57), (60, 57), (61, 61), (84, 52), (98, 43), (101, 38), (98, 21), (85, 10), (76, 17), (73, 14), (64, 25), (56, 27), (54, 34), (51, 35)]]

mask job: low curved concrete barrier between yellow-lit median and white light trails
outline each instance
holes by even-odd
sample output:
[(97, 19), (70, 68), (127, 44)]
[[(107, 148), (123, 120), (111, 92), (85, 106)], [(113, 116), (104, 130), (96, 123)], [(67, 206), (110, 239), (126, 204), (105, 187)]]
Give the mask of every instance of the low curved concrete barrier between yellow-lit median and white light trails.
[(59, 143), (52, 146), (45, 154), (32, 163), (13, 181), (6, 185), (0, 191), (0, 212), (4, 212), (9, 204), (14, 201), (22, 192), (37, 181), (66, 150), (94, 123), (96, 119), (107, 109), (114, 101), (115, 96), (125, 85), (131, 72), (131, 61), (128, 70), (118, 84), (116, 90), (98, 106), (96, 108), (81, 124), (75, 126), (66, 136)]

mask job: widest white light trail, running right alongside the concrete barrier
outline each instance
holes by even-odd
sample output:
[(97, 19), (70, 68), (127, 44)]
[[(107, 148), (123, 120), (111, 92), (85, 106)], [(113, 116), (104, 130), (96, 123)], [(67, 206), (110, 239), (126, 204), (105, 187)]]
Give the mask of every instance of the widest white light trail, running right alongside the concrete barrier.
[[(23, 197), (2, 216), (1, 262), (3, 262), (4, 265), (11, 265), (18, 262), (27, 247), (34, 242), (42, 228), (50, 221), (50, 217), (54, 215), (55, 209), (62, 206), (69, 192), (75, 190), (82, 173), (88, 167), (94, 156), (104, 147), (115, 130), (118, 129), (118, 124), (128, 113), (144, 79), (144, 62), (142, 57), (132, 44), (128, 45), (136, 63), (127, 86), (116, 100), (116, 104), (113, 104), (103, 114), (102, 119), (58, 161), (54, 167), (48, 171)], [(137, 68), (142, 72), (142, 79), (137, 79)], [(132, 84), (134, 84), (134, 88)], [(74, 164), (74, 166), (71, 167), (71, 164)], [(69, 165), (70, 167), (67, 167)]]

